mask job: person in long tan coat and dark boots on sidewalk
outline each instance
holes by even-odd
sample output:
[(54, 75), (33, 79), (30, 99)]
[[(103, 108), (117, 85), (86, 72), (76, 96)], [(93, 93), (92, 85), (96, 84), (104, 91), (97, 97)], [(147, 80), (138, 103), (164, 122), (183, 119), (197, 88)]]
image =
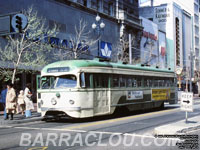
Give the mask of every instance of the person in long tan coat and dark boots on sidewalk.
[(9, 119), (9, 115), (11, 116), (10, 120), (13, 120), (13, 115), (16, 111), (16, 93), (13, 88), (12, 83), (7, 84), (7, 94), (6, 94), (6, 118)]

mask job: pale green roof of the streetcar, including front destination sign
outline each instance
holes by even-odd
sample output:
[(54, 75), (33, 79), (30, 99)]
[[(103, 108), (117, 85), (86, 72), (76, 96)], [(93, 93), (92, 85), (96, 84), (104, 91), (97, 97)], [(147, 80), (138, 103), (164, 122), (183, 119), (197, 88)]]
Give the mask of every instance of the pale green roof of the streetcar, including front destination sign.
[(71, 72), (78, 68), (84, 67), (107, 67), (107, 68), (119, 68), (119, 69), (130, 69), (130, 70), (145, 70), (145, 71), (156, 71), (156, 72), (167, 72), (174, 73), (168, 69), (155, 68), (150, 66), (141, 66), (130, 65), (130, 64), (122, 64), (122, 63), (113, 63), (113, 62), (100, 62), (98, 59), (94, 60), (66, 60), (66, 61), (58, 61), (51, 63), (45, 66), (41, 73), (61, 73), (61, 72)]

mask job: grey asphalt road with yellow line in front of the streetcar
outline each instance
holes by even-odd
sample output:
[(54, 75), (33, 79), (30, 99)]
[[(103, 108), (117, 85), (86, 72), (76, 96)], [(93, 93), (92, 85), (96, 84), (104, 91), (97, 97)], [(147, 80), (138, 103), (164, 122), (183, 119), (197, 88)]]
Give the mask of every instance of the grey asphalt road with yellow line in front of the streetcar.
[[(189, 113), (189, 117), (198, 115), (200, 104), (195, 103), (195, 111)], [(153, 130), (184, 118), (185, 113), (176, 104), (165, 105), (163, 110), (120, 113), (115, 116), (5, 125), (0, 127), (0, 149), (177, 150), (181, 148), (181, 144), (177, 145), (182, 142), (180, 138), (157, 138)], [(200, 135), (200, 130), (189, 134)]]

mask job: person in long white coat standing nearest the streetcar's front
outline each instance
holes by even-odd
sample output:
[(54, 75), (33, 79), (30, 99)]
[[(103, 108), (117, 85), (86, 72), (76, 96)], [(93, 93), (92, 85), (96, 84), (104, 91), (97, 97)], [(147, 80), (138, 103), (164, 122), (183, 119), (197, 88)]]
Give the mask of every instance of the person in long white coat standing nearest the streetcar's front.
[(31, 100), (32, 93), (30, 91), (30, 88), (31, 88), (31, 84), (27, 83), (26, 84), (26, 88), (24, 90), (24, 101), (25, 101), (25, 106), (26, 106), (26, 111), (25, 111), (26, 117), (31, 117), (31, 110), (34, 109), (33, 102)]

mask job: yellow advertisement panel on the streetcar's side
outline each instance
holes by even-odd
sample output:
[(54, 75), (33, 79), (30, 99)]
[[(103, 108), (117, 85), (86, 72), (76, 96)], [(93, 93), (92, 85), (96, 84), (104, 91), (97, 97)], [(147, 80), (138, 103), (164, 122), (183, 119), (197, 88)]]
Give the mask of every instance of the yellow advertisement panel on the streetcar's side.
[(169, 100), (170, 89), (152, 89), (152, 100)]

